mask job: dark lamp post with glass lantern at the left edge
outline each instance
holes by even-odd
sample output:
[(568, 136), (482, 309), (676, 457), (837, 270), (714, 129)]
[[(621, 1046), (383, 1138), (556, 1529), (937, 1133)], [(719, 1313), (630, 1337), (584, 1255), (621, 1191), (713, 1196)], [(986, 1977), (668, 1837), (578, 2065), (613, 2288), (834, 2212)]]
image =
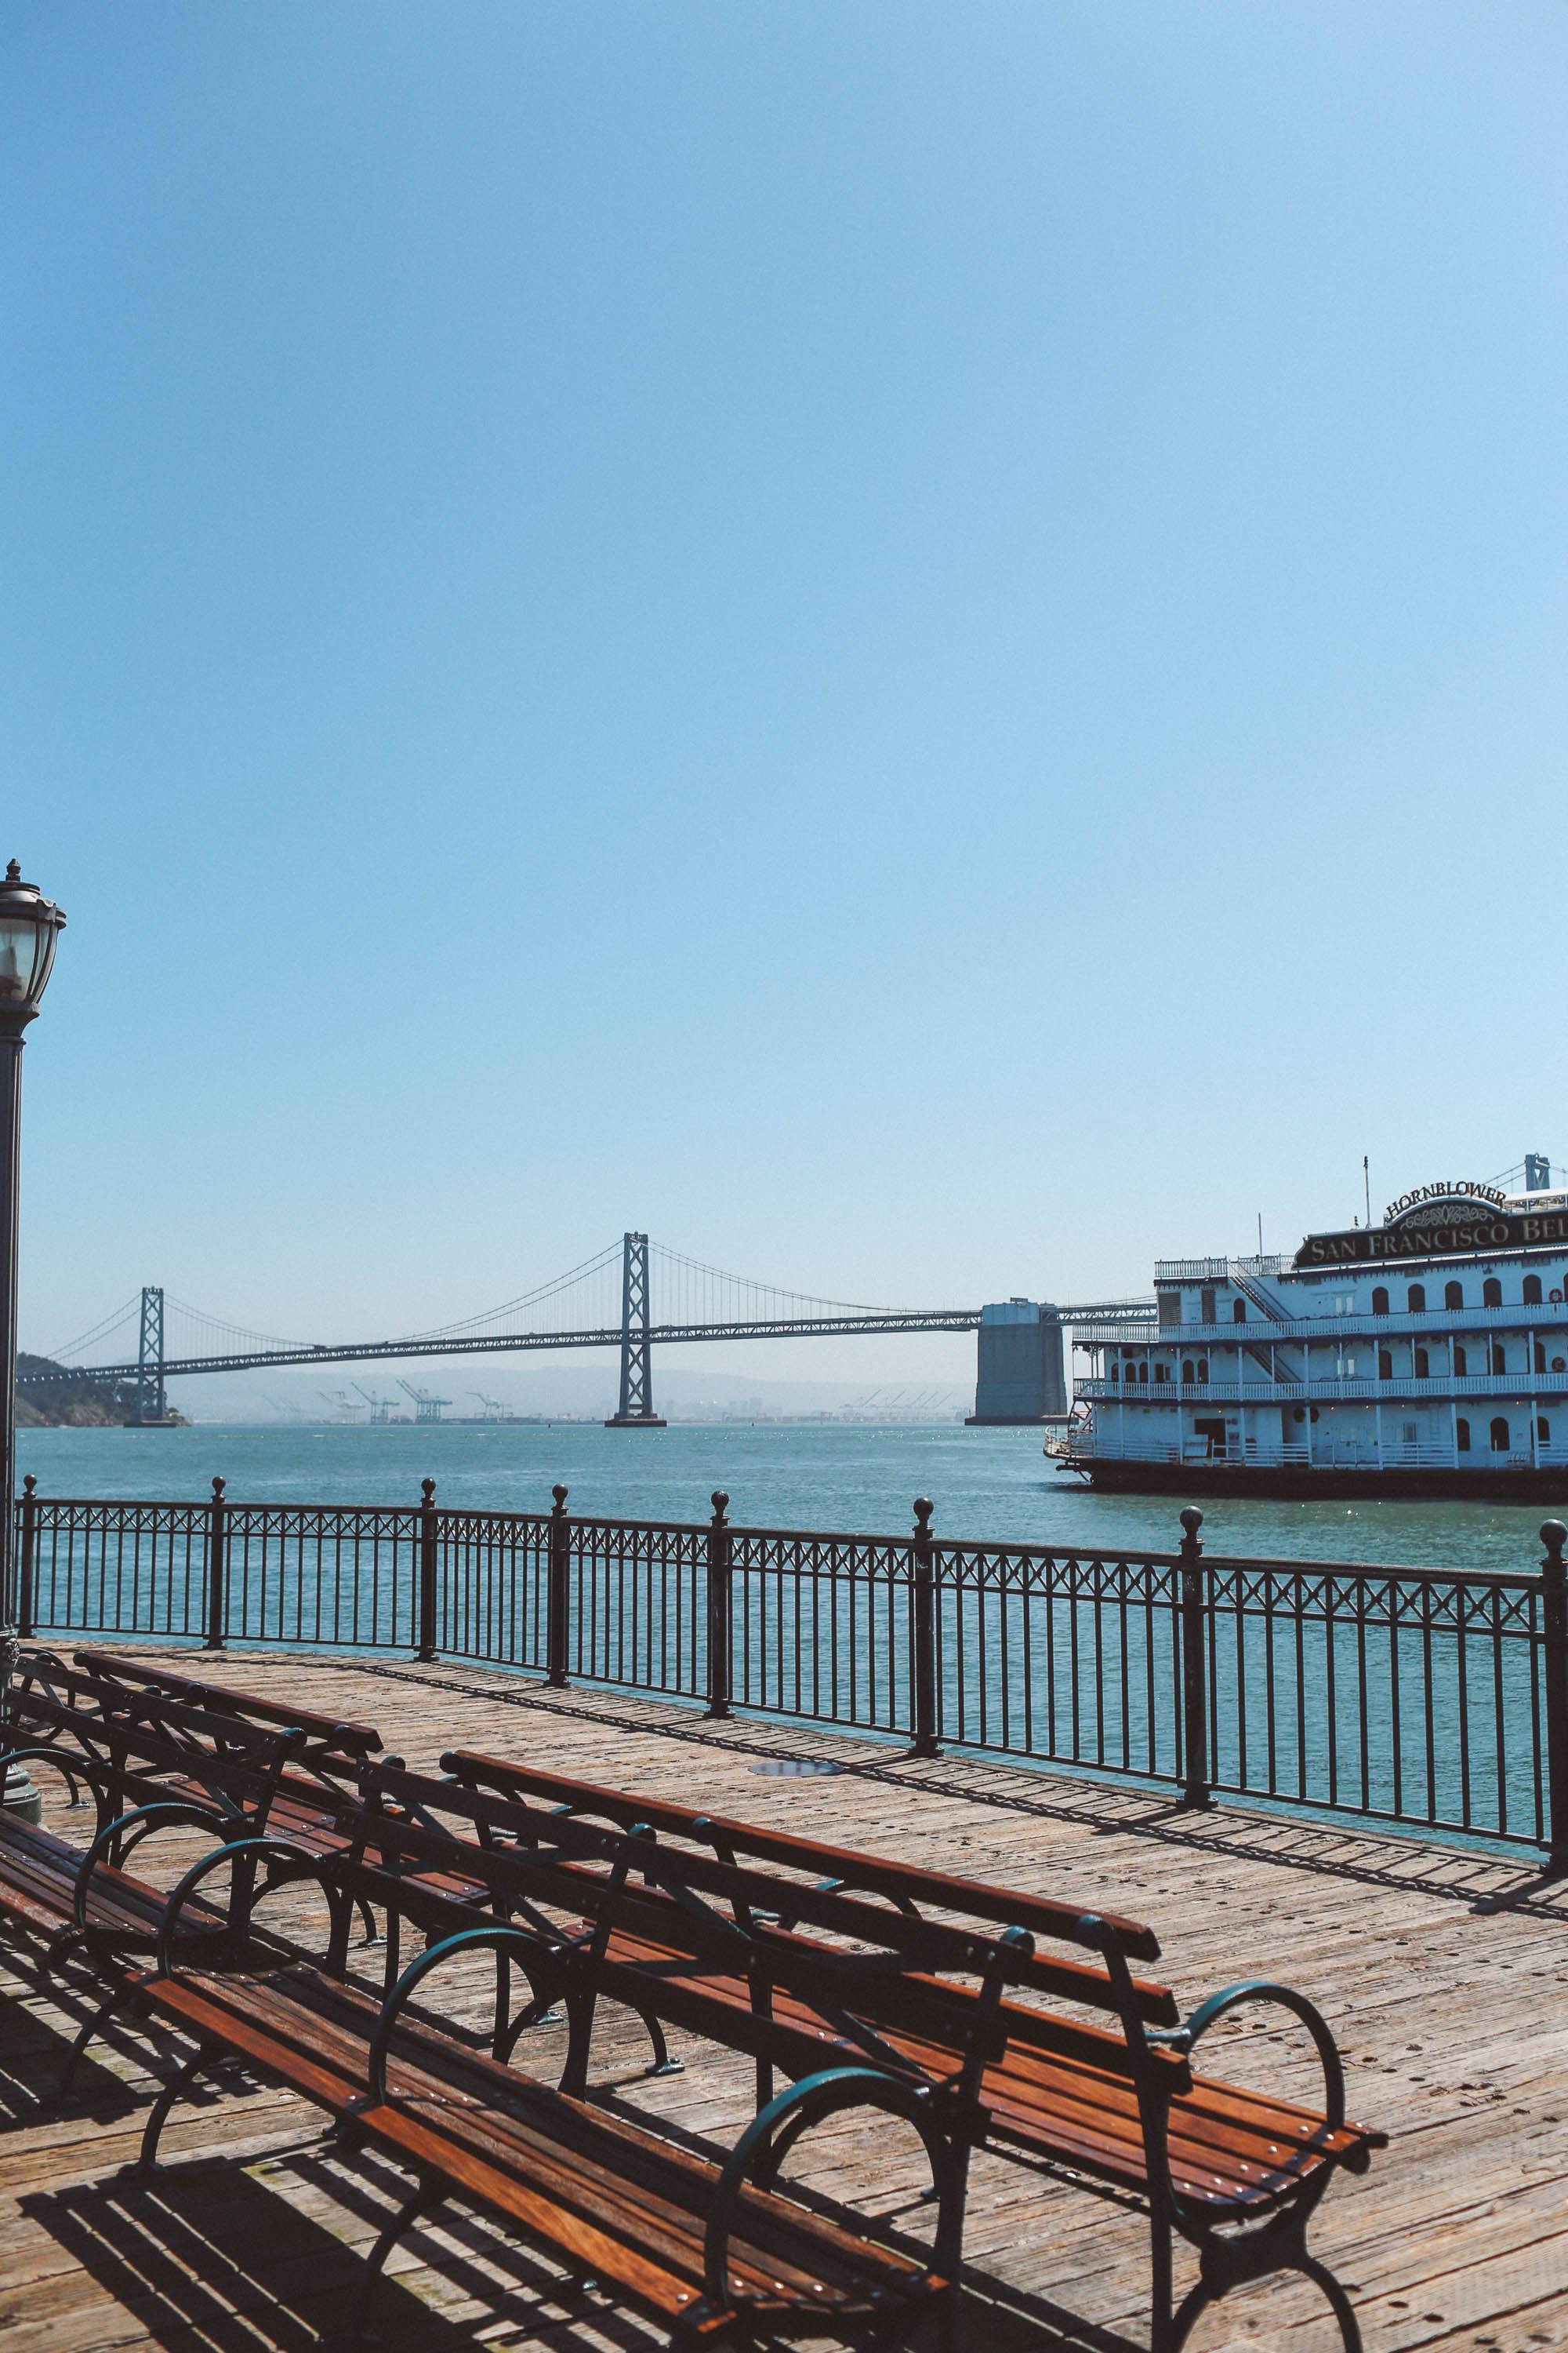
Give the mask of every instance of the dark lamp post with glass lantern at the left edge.
[[(16, 1191), (21, 1179), (21, 1045), (54, 962), (66, 918), (16, 859), (0, 882), (0, 1713), (16, 1668)], [(40, 1798), (21, 1765), (2, 1800), (38, 1821)]]

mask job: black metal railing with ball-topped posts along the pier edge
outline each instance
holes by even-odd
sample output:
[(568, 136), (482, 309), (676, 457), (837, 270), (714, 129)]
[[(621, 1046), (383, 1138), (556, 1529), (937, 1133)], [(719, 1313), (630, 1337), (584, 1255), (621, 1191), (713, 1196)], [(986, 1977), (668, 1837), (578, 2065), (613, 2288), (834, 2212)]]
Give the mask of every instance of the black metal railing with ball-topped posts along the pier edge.
[(16, 1499), (33, 1635), (414, 1649), (1568, 1864), (1566, 1532), (1530, 1574), (414, 1506)]

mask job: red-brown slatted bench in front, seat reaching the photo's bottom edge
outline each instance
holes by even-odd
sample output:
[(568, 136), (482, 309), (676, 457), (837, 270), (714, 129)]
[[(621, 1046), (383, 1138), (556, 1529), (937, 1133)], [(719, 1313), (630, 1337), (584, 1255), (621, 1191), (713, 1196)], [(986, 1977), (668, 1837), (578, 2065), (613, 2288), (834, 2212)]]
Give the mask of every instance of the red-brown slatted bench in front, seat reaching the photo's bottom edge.
[[(595, 1955), (555, 1937), (534, 1901), (538, 1859), (517, 1845), (494, 1840), (465, 1854), (496, 1911), (522, 1913), (529, 1925), (470, 1920), (414, 1960), (381, 2000), (346, 1981), (341, 1941), (324, 1965), (268, 1946), (249, 1894), (263, 1866), (270, 1885), (315, 1878), (339, 1897), (355, 1889), (376, 1904), (397, 1901), (400, 1866), (414, 1866), (421, 1875), (414, 1901), (425, 1906), (423, 1878), (440, 1871), (451, 1845), (433, 1807), (454, 1791), (395, 1769), (378, 1769), (376, 1779), (376, 1805), (346, 1854), (308, 1854), (266, 1835), (242, 1840), (186, 1873), (169, 1899), (155, 1967), (139, 1977), (136, 1998), (153, 2021), (188, 2035), (195, 2052), (148, 2115), (143, 2165), (158, 2162), (167, 2115), (195, 2078), (240, 2066), (310, 2099), (353, 2144), (371, 2144), (414, 2172), (407, 2202), (371, 2252), (367, 2294), (402, 2231), (433, 2205), (458, 2198), (567, 2271), (590, 2273), (614, 2299), (663, 2322), (679, 2346), (750, 2344), (776, 2329), (896, 2346), (922, 2315), (950, 2315), (966, 2141), (945, 2108), (961, 2104), (994, 2035), (976, 2033), (973, 2057), (945, 2101), (884, 2068), (818, 2066), (755, 2118), (722, 2162), (693, 2155), (654, 2127), (607, 2115), (498, 2054), (468, 2047), (414, 2009), (433, 1974), (473, 1951), (494, 1951), (501, 1962), (517, 1962), (531, 1986), (562, 1984), (581, 2000)], [(491, 1831), (505, 1833), (489, 1800), (470, 1805), (489, 1812)], [(630, 1838), (623, 1845), (628, 1859), (632, 1847), (642, 1849)], [(179, 1948), (183, 1908), (214, 1873), (237, 1866), (244, 1878), (235, 1880), (226, 1958), (193, 1967)], [(576, 1882), (567, 1892), (576, 1894)], [(900, 1920), (898, 1934), (907, 1932)], [(235, 1960), (240, 1941), (244, 1953)], [(994, 1939), (992, 2012), (1011, 1960), (1009, 1939)], [(769, 2028), (766, 2017), (752, 2040), (773, 2057), (792, 2054), (788, 2028)], [(938, 2193), (931, 2261), (771, 2186), (783, 2146), (846, 2108), (900, 2118), (919, 2134)]]

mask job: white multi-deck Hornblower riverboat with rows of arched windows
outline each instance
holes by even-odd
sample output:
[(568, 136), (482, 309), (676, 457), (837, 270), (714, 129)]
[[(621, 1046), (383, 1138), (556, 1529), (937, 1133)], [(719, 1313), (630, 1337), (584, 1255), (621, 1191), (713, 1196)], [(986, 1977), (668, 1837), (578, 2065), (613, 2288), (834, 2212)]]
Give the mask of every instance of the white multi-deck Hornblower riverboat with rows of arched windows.
[(1152, 1494), (1568, 1501), (1568, 1191), (1443, 1181), (1295, 1257), (1161, 1259), (1154, 1322), (1079, 1329), (1048, 1449)]

